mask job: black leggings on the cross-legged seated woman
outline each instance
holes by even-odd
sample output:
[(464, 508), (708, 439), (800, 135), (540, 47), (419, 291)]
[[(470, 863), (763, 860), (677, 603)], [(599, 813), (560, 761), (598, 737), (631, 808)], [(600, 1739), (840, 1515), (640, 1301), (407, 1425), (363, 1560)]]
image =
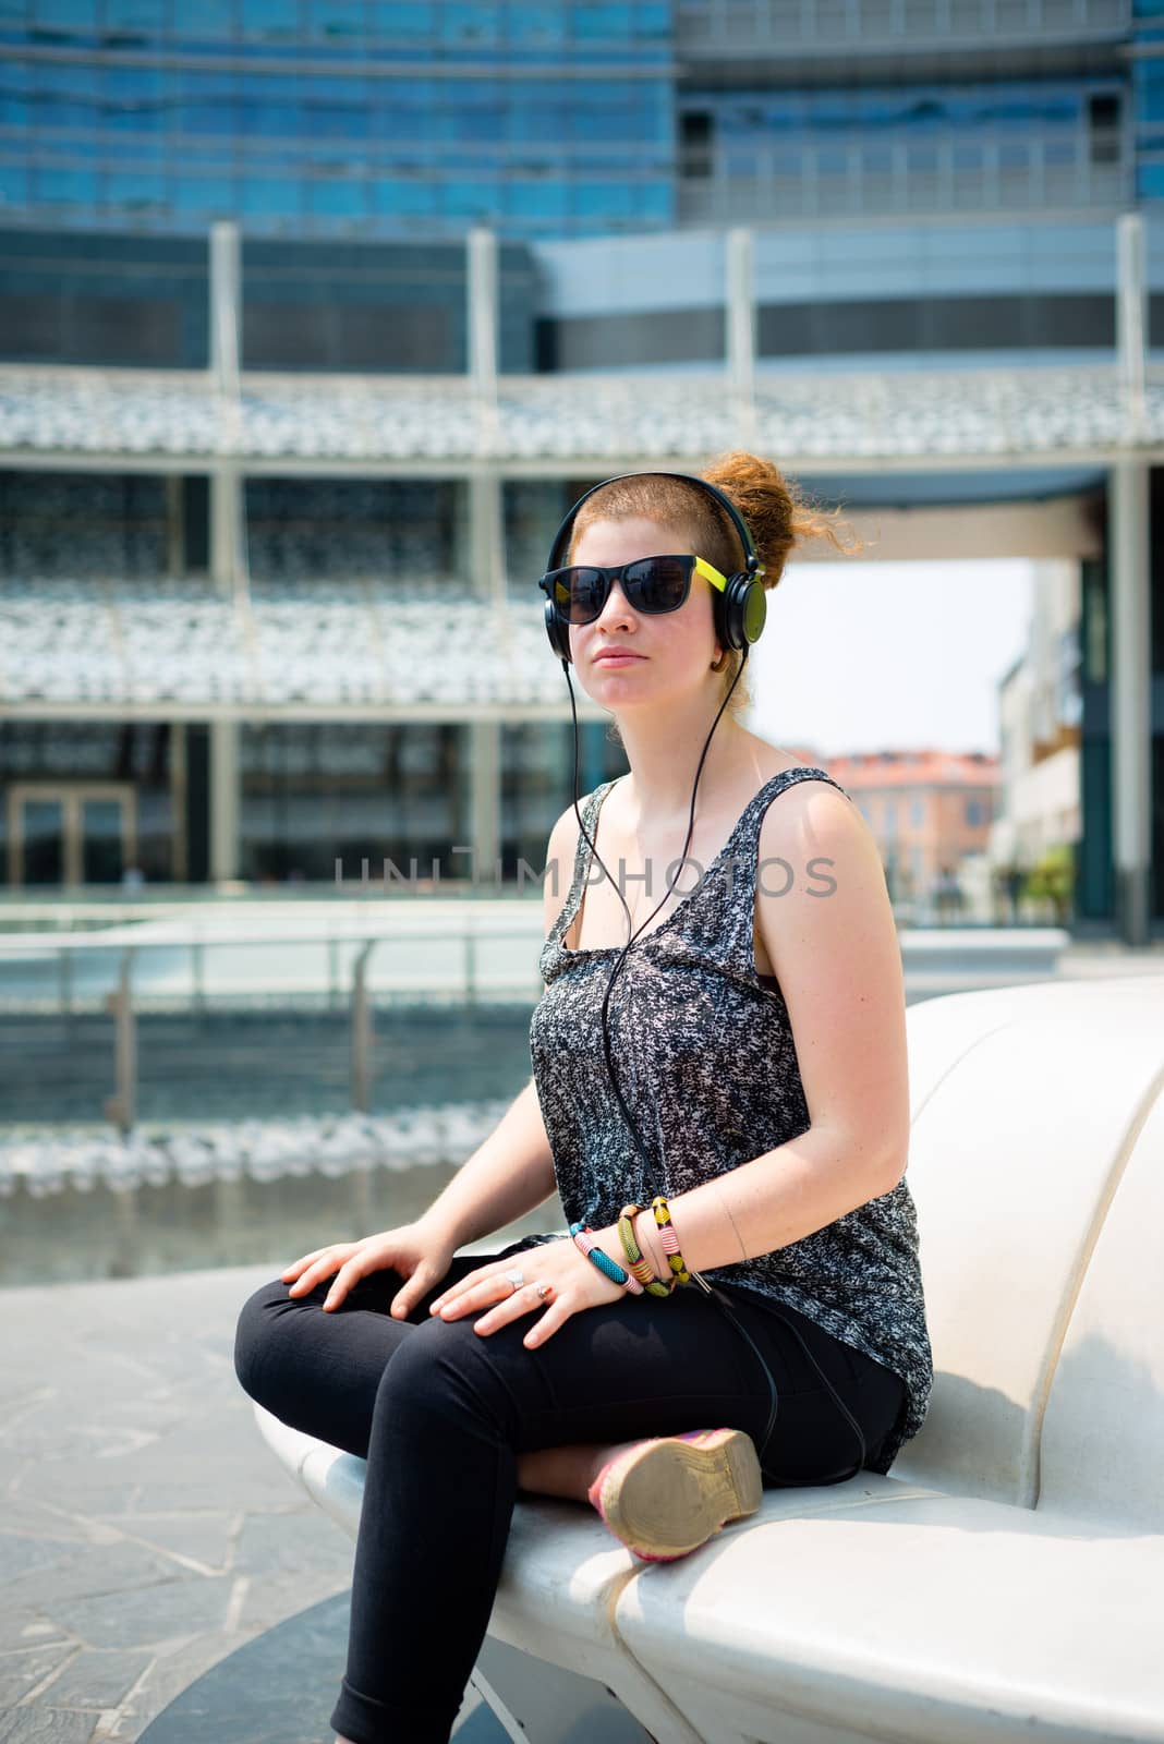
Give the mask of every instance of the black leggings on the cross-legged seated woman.
[[(523, 1345), (531, 1315), (488, 1338), (474, 1332), (472, 1313), (429, 1315), (443, 1289), (511, 1250), (453, 1259), (408, 1320), (389, 1315), (404, 1282), (394, 1271), (364, 1278), (328, 1313), (331, 1278), (300, 1298), (275, 1278), (239, 1315), (235, 1373), (251, 1399), (368, 1461), (347, 1674), (331, 1713), (354, 1744), (448, 1744), (493, 1608), (519, 1453), (732, 1427), (753, 1437), (772, 1484), (836, 1481), (859, 1460), (852, 1427), (795, 1334), (742, 1289), (716, 1285), (775, 1381), (767, 1449), (768, 1380), (699, 1285), (666, 1301), (643, 1294), (587, 1308), (537, 1350)], [(897, 1418), (901, 1380), (795, 1308), (781, 1313), (873, 1454)]]

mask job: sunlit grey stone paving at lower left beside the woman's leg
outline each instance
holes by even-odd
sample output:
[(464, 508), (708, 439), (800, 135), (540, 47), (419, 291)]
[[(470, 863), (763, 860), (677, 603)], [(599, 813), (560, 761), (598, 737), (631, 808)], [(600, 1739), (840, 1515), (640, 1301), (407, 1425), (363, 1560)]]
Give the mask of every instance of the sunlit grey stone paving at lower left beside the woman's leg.
[[(127, 1744), (350, 1587), (352, 1542), (267, 1451), (233, 1373), (239, 1308), (277, 1271), (0, 1291), (0, 1744)], [(342, 1671), (312, 1692), (319, 1744)]]

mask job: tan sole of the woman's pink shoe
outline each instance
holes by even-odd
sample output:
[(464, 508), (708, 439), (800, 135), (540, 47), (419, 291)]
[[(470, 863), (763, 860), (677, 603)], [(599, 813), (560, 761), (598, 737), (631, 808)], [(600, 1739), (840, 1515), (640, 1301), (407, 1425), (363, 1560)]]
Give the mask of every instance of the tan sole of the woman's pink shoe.
[(760, 1507), (763, 1481), (749, 1435), (706, 1430), (699, 1441), (662, 1437), (612, 1460), (592, 1500), (606, 1526), (646, 1561), (699, 1549), (721, 1526)]

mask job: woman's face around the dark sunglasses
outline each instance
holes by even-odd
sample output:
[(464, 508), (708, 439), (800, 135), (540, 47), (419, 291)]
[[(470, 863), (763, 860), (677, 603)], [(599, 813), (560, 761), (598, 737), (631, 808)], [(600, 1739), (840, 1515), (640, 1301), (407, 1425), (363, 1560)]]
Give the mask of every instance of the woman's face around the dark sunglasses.
[[(591, 521), (575, 542), (572, 563), (615, 569), (640, 556), (690, 553), (690, 534), (645, 516), (627, 521)], [(606, 651), (633, 659), (598, 659)], [(592, 624), (570, 626), (570, 654), (587, 696), (613, 710), (657, 703), (714, 684), (709, 671), (720, 654), (714, 633), (711, 582), (692, 576), (678, 612), (636, 612), (615, 581)]]

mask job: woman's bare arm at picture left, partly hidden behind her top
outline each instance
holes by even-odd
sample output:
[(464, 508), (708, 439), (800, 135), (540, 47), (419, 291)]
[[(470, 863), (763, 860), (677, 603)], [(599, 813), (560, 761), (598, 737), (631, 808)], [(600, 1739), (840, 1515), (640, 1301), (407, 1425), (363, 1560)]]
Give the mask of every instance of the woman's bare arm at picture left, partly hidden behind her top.
[[(542, 930), (549, 935), (570, 888), (568, 872), (579, 825), (570, 806), (551, 830), (542, 881)], [(554, 1191), (554, 1155), (533, 1080), (511, 1104), (500, 1125), (460, 1167), (422, 1223), (451, 1236), (455, 1247), (476, 1242), (535, 1210)]]

